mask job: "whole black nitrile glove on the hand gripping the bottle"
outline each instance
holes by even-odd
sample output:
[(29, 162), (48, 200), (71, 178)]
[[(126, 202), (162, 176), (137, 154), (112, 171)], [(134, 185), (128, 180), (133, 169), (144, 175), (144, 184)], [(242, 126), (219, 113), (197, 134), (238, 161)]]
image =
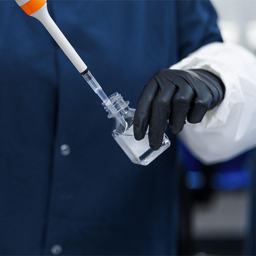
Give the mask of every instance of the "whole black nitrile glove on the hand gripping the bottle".
[(220, 78), (203, 69), (160, 69), (145, 85), (134, 114), (133, 131), (142, 140), (149, 124), (149, 145), (162, 145), (167, 119), (171, 132), (182, 131), (189, 123), (200, 123), (207, 110), (222, 100), (225, 86)]

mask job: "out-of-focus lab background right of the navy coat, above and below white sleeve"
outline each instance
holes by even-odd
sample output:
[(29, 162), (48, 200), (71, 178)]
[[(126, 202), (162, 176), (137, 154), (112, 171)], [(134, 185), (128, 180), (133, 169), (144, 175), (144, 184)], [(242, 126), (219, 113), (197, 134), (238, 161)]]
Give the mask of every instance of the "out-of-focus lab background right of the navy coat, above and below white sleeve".
[[(256, 54), (256, 0), (211, 2), (224, 42)], [(255, 255), (255, 149), (212, 166), (179, 151), (180, 255)]]

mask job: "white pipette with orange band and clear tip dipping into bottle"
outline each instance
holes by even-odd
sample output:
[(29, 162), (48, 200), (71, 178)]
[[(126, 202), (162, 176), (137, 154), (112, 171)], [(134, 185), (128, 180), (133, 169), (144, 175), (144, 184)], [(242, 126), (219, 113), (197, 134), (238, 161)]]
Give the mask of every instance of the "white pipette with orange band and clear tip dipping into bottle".
[[(109, 111), (115, 114), (119, 122), (126, 127), (127, 123), (124, 118), (118, 114), (115, 106), (108, 99), (105, 92), (102, 90), (100, 84), (92, 76), (91, 72), (87, 69), (84, 61), (77, 54), (72, 45), (68, 42), (67, 38), (62, 34), (56, 23), (52, 20), (48, 10), (46, 0), (15, 0), (16, 3), (26, 12), (29, 16), (32, 16), (39, 20), (56, 43), (60, 46), (62, 51), (67, 55), (68, 59), (73, 63), (79, 73), (82, 74), (87, 83), (92, 87), (93, 91), (98, 94), (103, 103), (108, 106)], [(116, 114), (117, 113), (117, 114)]]

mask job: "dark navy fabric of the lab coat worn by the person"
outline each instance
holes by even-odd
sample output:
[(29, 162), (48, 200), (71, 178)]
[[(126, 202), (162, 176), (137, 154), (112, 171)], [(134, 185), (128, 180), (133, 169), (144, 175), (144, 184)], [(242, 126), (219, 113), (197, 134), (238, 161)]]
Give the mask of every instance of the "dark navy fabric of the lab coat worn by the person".
[[(208, 1), (47, 1), (107, 95), (135, 107), (160, 68), (221, 41)], [(0, 1), (0, 254), (175, 255), (172, 145), (132, 164), (98, 96), (43, 25)], [(70, 146), (63, 156), (60, 147)]]

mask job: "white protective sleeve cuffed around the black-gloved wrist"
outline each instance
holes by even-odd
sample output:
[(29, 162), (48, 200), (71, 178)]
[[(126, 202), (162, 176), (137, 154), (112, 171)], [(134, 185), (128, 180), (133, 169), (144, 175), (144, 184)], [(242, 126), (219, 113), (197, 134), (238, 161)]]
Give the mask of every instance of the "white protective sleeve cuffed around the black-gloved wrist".
[(242, 46), (214, 42), (204, 45), (170, 69), (205, 69), (226, 87), (219, 106), (201, 123), (186, 122), (179, 136), (203, 164), (228, 161), (256, 145), (256, 56)]

